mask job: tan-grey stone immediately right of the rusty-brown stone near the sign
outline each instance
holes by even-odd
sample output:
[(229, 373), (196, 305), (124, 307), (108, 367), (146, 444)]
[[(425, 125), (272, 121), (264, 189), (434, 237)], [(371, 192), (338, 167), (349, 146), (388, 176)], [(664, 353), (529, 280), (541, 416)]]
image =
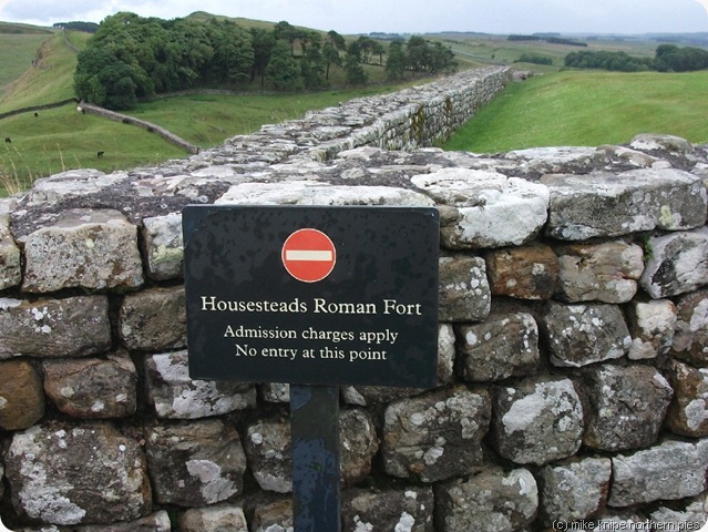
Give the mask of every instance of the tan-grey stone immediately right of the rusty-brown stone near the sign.
[(555, 248), (558, 255), (560, 299), (568, 303), (627, 303), (637, 293), (644, 252), (637, 245), (609, 242)]

